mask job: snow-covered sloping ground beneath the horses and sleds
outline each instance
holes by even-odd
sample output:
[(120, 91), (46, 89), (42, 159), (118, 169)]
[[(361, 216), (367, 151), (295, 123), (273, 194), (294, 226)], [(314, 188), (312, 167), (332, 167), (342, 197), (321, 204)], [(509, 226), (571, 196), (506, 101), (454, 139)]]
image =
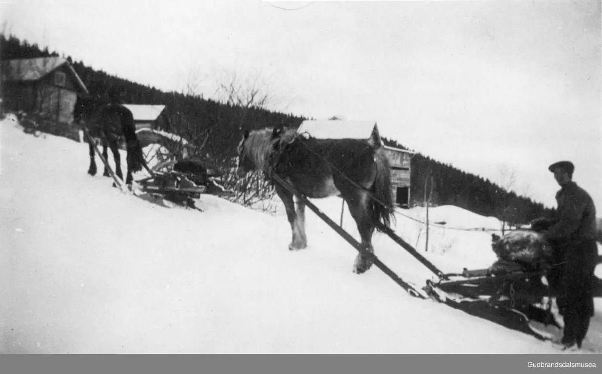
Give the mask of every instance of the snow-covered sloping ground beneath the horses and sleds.
[[(290, 252), (281, 206), (267, 214), (202, 196), (203, 213), (161, 207), (112, 188), (98, 158), (98, 175), (87, 175), (84, 143), (34, 137), (10, 120), (1, 124), (0, 149), (0, 352), (560, 352), (412, 298), (376, 266), (352, 273), (357, 252), (311, 210), (309, 248)], [(314, 202), (339, 222), (340, 199)], [(345, 213), (343, 225), (357, 238)], [(429, 217), (453, 228), (500, 227), (450, 206)], [(396, 231), (424, 251), (419, 223), (399, 215)], [(445, 272), (495, 260), (491, 232), (431, 229), (429, 243), (424, 254)], [(432, 276), (385, 235), (374, 247), (406, 281), (424, 285)], [(585, 348), (602, 353), (596, 302)]]

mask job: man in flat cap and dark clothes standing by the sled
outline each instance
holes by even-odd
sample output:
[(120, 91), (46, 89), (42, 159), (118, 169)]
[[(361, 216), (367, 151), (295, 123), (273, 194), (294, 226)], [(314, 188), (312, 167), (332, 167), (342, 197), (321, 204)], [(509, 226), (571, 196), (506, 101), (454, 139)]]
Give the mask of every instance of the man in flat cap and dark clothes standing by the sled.
[(542, 232), (554, 248), (554, 266), (547, 278), (557, 292), (556, 302), (565, 322), (561, 343), (565, 349), (574, 344), (581, 348), (594, 316), (596, 208), (591, 196), (573, 181), (573, 163), (559, 161), (548, 169), (561, 187), (556, 193), (556, 217), (537, 219), (532, 228)]

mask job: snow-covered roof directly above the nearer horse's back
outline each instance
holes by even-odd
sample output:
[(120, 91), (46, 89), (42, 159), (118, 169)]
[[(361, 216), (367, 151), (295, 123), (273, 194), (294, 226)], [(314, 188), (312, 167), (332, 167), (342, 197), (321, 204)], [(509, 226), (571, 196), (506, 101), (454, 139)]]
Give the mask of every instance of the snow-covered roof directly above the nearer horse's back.
[(369, 139), (374, 126), (376, 121), (305, 120), (297, 132), (308, 132), (318, 139)]

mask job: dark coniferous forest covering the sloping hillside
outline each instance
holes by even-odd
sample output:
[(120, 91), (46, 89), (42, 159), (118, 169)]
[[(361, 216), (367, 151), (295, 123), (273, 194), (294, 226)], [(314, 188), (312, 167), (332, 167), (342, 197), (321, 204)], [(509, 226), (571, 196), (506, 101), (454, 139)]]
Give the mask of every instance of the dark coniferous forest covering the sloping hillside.
[[(0, 36), (2, 60), (59, 56), (48, 48), (40, 49), (14, 36)], [(62, 56), (66, 57), (66, 56)], [(277, 113), (249, 105), (240, 107), (233, 102), (220, 102), (198, 95), (163, 92), (128, 79), (94, 70), (66, 57), (91, 93), (104, 98), (117, 98), (124, 104), (166, 105), (173, 131), (187, 139), (203, 142), (203, 154), (214, 160), (226, 160), (235, 155), (241, 137), (241, 128), (258, 129), (284, 125), (298, 127), (305, 117)], [(184, 131), (185, 130), (185, 131)], [(394, 139), (383, 138), (386, 145), (408, 149)], [(512, 223), (527, 223), (536, 217), (550, 217), (553, 209), (532, 199), (508, 192), (488, 179), (440, 163), (427, 155), (417, 153), (412, 158), (411, 201), (430, 205), (456, 205), (485, 216), (494, 216)]]

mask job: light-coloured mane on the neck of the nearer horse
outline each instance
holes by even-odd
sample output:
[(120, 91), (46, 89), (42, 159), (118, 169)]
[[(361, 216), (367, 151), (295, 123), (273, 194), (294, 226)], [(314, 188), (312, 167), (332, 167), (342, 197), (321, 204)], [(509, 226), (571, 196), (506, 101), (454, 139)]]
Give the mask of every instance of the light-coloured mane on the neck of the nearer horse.
[(274, 149), (281, 149), (282, 145), (293, 142), (297, 137), (297, 130), (286, 129), (279, 137), (272, 139), (273, 128), (253, 130), (244, 141), (244, 148), (255, 164), (256, 169), (268, 172), (269, 161)]

